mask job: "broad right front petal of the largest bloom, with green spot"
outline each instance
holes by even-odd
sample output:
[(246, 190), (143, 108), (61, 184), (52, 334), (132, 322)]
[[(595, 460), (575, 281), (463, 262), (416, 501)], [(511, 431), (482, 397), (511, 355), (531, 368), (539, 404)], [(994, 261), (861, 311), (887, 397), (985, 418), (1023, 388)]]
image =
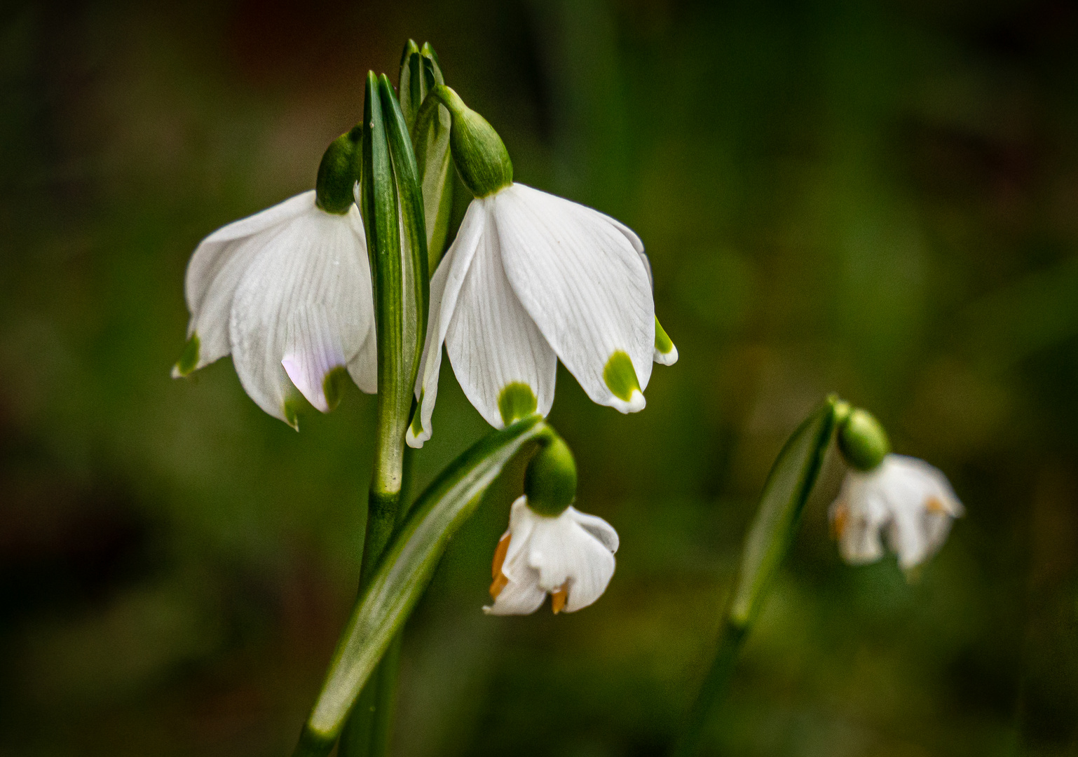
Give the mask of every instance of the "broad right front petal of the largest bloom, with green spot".
[(589, 397), (622, 412), (604, 380), (624, 352), (640, 389), (651, 376), (654, 303), (639, 252), (622, 228), (591, 208), (513, 184), (490, 197), (506, 274), (524, 309)]

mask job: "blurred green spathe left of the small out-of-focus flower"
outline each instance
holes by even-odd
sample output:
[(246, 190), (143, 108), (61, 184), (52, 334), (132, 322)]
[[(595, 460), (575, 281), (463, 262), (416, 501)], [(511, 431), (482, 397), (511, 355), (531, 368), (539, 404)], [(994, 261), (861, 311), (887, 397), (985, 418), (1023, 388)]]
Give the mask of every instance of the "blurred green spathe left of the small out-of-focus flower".
[(813, 484), (834, 430), (838, 398), (828, 397), (787, 440), (760, 495), (760, 507), (745, 537), (730, 621), (748, 627), (797, 533)]

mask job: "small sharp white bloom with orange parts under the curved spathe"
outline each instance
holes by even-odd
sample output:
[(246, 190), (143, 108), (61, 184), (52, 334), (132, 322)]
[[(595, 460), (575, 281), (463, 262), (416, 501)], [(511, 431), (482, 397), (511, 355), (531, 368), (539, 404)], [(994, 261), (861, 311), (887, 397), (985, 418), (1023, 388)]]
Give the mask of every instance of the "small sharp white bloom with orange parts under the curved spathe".
[(527, 497), (513, 503), (509, 531), (494, 553), (492, 615), (528, 615), (551, 595), (554, 613), (573, 613), (595, 602), (613, 576), (618, 533), (602, 518), (569, 507), (540, 515)]

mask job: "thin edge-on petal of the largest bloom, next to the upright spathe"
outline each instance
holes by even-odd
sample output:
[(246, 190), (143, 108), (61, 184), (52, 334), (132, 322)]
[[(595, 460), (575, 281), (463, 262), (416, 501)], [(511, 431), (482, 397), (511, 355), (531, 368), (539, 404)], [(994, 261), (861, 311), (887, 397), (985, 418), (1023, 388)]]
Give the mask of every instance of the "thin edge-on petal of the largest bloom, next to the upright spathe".
[(405, 441), (409, 446), (420, 448), (430, 439), (430, 416), (438, 399), (438, 376), (442, 367), (442, 344), (453, 318), (460, 287), (464, 285), (472, 257), (479, 247), (480, 237), (486, 222), (486, 209), (482, 201), (473, 199), (460, 222), (460, 230), (446, 251), (441, 264), (430, 279), (430, 320), (427, 324), (427, 341), (419, 361), (416, 376), (415, 396), (419, 400), (418, 423), (409, 425)]

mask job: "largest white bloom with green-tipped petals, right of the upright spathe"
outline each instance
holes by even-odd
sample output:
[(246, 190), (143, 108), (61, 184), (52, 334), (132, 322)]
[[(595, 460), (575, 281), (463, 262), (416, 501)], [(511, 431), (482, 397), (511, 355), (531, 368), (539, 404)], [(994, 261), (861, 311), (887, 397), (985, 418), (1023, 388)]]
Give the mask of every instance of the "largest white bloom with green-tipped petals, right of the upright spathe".
[(511, 184), (472, 201), (431, 278), (407, 441), (430, 438), (443, 343), (468, 399), (501, 428), (522, 405), (547, 415), (558, 358), (595, 402), (641, 410), (652, 359), (677, 359), (661, 341), (663, 352), (639, 237), (583, 205)]

